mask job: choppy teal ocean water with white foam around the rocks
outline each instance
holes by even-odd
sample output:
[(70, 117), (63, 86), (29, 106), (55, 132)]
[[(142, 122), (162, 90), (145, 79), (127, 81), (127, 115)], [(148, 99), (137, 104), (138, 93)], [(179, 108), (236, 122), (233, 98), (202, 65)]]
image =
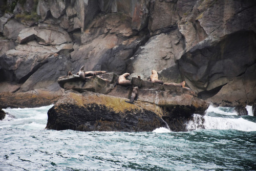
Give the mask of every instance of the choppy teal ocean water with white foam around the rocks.
[(127, 133), (46, 130), (51, 107), (4, 109), (0, 170), (256, 170), (256, 117), (233, 108), (209, 106), (188, 132)]

